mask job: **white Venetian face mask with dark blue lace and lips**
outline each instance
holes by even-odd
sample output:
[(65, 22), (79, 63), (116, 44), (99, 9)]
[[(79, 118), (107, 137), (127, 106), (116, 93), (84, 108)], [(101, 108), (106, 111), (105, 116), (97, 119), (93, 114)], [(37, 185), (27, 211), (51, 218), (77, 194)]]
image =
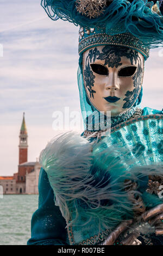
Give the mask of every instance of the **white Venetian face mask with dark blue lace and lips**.
[(141, 53), (127, 47), (97, 46), (83, 54), (87, 96), (98, 111), (126, 112), (139, 96), (144, 70)]

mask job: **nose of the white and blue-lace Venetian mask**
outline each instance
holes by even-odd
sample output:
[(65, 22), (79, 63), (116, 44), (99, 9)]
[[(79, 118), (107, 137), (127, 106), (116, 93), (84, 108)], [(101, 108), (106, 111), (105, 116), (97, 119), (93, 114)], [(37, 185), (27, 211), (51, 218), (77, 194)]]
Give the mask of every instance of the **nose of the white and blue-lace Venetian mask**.
[(105, 82), (105, 89), (111, 92), (115, 92), (116, 90), (120, 89), (120, 86), (117, 81), (116, 72), (109, 72), (109, 77), (106, 77)]

